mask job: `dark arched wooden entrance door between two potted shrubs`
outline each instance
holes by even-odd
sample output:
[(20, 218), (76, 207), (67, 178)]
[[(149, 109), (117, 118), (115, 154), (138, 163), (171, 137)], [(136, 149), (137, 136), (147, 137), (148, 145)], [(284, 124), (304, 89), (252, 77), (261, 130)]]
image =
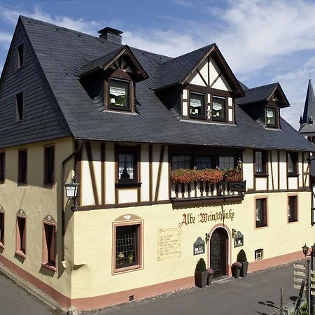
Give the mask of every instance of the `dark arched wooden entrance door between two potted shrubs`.
[(223, 228), (212, 232), (210, 239), (210, 267), (214, 277), (227, 274), (228, 269), (228, 233)]

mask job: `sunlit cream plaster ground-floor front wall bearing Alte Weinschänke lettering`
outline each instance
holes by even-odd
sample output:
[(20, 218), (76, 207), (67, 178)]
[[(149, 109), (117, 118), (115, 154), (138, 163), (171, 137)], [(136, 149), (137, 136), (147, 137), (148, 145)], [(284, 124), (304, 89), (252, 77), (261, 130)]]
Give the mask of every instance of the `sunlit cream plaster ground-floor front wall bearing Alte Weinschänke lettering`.
[[(115, 293), (132, 288), (150, 286), (174, 279), (193, 276), (195, 264), (204, 258), (209, 267), (209, 244), (206, 253), (193, 255), (193, 243), (197, 237), (210, 232), (214, 225), (222, 221), (200, 222), (200, 213), (234, 213), (233, 220), (225, 220), (225, 228), (232, 228), (244, 235), (244, 246), (234, 248), (229, 265), (236, 260), (237, 253), (244, 248), (249, 262), (254, 260), (254, 251), (264, 249), (264, 258), (272, 258), (300, 251), (306, 242), (314, 241), (310, 225), (310, 193), (297, 193), (297, 223), (288, 223), (287, 193), (272, 193), (267, 196), (268, 227), (255, 228), (255, 197), (245, 195), (239, 204), (225, 204), (214, 207), (190, 207), (173, 209), (172, 204), (150, 207), (130, 207), (99, 211), (76, 212), (74, 218), (75, 270), (72, 273), (72, 297), (87, 297)], [(118, 217), (133, 214), (144, 220), (144, 265), (143, 269), (112, 275), (112, 223)], [(195, 217), (195, 223), (179, 224), (183, 214)], [(179, 229), (181, 233), (181, 255), (164, 260), (157, 259), (158, 230)], [(294, 235), (294, 237), (292, 237)], [(281, 246), (274, 246), (276, 239)], [(290, 241), (288, 241), (290, 239)], [(181, 266), (180, 268), (178, 266)]]

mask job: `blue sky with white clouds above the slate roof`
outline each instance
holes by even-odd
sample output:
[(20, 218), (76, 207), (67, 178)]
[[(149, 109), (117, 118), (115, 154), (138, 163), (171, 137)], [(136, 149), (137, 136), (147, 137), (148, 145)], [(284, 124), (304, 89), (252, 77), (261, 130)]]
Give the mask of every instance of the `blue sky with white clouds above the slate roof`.
[(216, 43), (248, 87), (281, 84), (291, 105), (281, 116), (296, 129), (315, 80), (314, 0), (0, 0), (0, 72), (19, 15), (94, 36), (113, 27), (171, 57)]

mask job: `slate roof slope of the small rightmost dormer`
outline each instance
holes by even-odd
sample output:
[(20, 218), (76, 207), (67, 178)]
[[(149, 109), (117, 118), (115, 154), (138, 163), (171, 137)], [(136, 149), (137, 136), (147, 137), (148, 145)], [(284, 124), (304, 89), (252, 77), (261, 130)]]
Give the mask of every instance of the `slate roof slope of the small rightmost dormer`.
[(274, 90), (276, 90), (276, 87), (278, 86), (279, 83), (271, 83), (268, 85), (253, 87), (251, 89), (245, 90), (246, 96), (239, 97), (239, 99), (236, 99), (235, 102), (239, 105), (242, 105), (269, 101), (269, 98), (272, 96)]

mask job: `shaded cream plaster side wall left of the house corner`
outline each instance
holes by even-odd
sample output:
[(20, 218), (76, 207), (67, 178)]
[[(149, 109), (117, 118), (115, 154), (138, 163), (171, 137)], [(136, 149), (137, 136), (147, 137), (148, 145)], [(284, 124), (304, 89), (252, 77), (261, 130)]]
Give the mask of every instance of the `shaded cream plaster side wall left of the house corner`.
[[(55, 185), (43, 186), (44, 146), (55, 145)], [(27, 148), (27, 186), (18, 186), (18, 149)], [(71, 260), (73, 256), (72, 211), (66, 209), (66, 263), (61, 265), (61, 164), (74, 151), (71, 138), (28, 144), (6, 149), (6, 181), (0, 185), (0, 205), (5, 211), (4, 248), (0, 253), (18, 267), (32, 274), (62, 294), (71, 296)], [(73, 160), (66, 164), (65, 181), (69, 182), (73, 173)], [(68, 176), (69, 175), (69, 176)], [(64, 198), (66, 202), (66, 197)], [(25, 211), (26, 218), (26, 258), (15, 255), (16, 213)], [(43, 219), (52, 216), (57, 223), (57, 272), (41, 267), (43, 258)]]

